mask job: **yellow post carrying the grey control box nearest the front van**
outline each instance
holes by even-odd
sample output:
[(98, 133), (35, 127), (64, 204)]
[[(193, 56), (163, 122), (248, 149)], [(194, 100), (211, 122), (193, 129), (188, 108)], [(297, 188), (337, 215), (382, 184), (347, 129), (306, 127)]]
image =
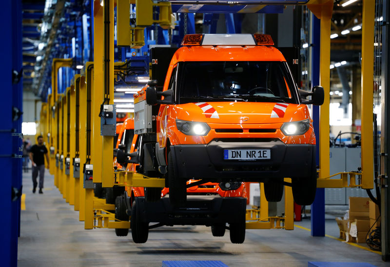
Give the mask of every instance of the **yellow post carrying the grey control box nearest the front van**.
[[(107, 0), (106, 0), (107, 2)], [(108, 14), (107, 14), (108, 12)], [(108, 19), (109, 23), (107, 27), (104, 29), (104, 42), (107, 45), (104, 46), (104, 64), (103, 64), (103, 83), (108, 92), (108, 95), (104, 95), (104, 99), (109, 99), (108, 104), (114, 104), (114, 1), (109, 1), (108, 5), (105, 5), (103, 8), (103, 17), (105, 20)], [(107, 25), (107, 23), (105, 24)], [(107, 51), (108, 49), (108, 51)], [(95, 88), (97, 89), (97, 88)], [(99, 88), (98, 88), (99, 90)], [(100, 87), (100, 91), (103, 92)], [(98, 99), (98, 98), (97, 98)], [(101, 98), (100, 100), (103, 100)], [(100, 104), (98, 109), (100, 111)], [(94, 116), (98, 115), (98, 113), (94, 114)], [(100, 136), (100, 117), (98, 117), (98, 126), (99, 126), (99, 138)], [(114, 144), (114, 136), (103, 136), (102, 149), (98, 150), (98, 153), (103, 155), (100, 158), (100, 162), (102, 165), (101, 169), (101, 183), (103, 187), (113, 187), (114, 186), (114, 172), (113, 172), (113, 144)], [(101, 152), (100, 152), (101, 151)], [(95, 153), (96, 154), (96, 153)], [(94, 155), (95, 156), (95, 155)], [(94, 174), (95, 175), (95, 174)], [(95, 178), (94, 178), (95, 179)]]

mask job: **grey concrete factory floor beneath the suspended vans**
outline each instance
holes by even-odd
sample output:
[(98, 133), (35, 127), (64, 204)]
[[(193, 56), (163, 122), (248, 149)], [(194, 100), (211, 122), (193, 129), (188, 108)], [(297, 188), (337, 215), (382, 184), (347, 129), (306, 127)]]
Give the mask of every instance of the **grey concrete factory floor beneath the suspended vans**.
[[(47, 171), (46, 171), (47, 173)], [(167, 260), (217, 260), (234, 266), (308, 266), (309, 261), (366, 262), (389, 266), (377, 253), (330, 237), (312, 237), (295, 227), (246, 231), (244, 244), (231, 244), (229, 231), (213, 237), (210, 227), (160, 227), (149, 232), (148, 242), (135, 244), (131, 233), (117, 237), (113, 229), (84, 230), (78, 212), (45, 176), (44, 194), (32, 193), (31, 172), (23, 175), (26, 210), (21, 212), (18, 265), (24, 266), (155, 266)], [(299, 225), (310, 228), (310, 220)], [(326, 233), (338, 237), (334, 220)]]

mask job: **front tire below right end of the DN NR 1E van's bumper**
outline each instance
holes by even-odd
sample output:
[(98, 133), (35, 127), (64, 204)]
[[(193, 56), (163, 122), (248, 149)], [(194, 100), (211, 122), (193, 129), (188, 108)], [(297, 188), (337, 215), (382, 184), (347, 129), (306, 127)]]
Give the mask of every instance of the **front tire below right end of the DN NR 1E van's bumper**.
[(317, 168), (312, 164), (312, 175), (308, 178), (292, 178), (292, 196), (298, 205), (312, 205), (317, 190)]

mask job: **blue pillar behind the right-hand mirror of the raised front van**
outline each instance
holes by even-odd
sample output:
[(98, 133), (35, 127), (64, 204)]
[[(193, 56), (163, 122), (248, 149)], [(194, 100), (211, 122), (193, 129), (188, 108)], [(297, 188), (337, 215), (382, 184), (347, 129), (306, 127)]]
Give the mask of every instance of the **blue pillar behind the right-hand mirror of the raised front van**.
[[(312, 86), (320, 85), (320, 20), (312, 15)], [(322, 122), (324, 123), (324, 122)], [(317, 139), (316, 163), (319, 164), (319, 106), (313, 106), (313, 127)], [(321, 166), (320, 166), (321, 167)], [(317, 188), (312, 204), (312, 236), (325, 236), (325, 188)]]

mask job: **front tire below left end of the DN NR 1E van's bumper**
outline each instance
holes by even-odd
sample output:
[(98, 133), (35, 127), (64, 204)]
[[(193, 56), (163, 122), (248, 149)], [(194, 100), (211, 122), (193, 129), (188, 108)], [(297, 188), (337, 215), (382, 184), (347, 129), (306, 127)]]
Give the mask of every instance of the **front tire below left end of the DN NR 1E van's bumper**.
[(169, 185), (169, 202), (173, 207), (183, 207), (187, 201), (186, 181), (176, 177), (174, 161), (171, 152), (168, 154), (168, 185)]

